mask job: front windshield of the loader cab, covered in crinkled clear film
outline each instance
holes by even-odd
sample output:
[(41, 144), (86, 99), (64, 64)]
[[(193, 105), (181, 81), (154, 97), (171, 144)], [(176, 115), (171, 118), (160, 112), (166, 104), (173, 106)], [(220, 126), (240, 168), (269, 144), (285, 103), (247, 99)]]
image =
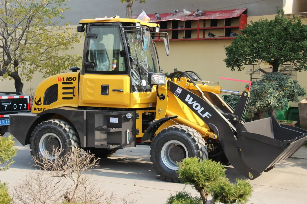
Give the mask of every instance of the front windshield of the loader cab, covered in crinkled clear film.
[[(149, 28), (142, 27), (142, 32)], [(148, 51), (143, 51), (140, 31), (126, 32), (129, 58), (131, 64), (132, 92), (150, 92), (152, 85), (148, 83), (148, 72), (159, 72), (157, 53), (150, 37)]]

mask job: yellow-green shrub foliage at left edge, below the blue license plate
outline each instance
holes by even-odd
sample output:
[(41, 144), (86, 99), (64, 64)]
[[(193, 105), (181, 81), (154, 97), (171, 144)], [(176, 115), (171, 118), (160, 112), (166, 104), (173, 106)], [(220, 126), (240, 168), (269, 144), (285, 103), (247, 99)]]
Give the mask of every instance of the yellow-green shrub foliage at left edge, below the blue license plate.
[[(15, 157), (17, 154), (17, 148), (14, 147), (13, 137), (0, 137), (0, 172), (5, 171), (9, 168), (11, 164), (14, 163), (12, 157)], [(12, 199), (8, 192), (8, 187), (6, 183), (0, 182), (0, 203), (9, 204), (12, 202)]]

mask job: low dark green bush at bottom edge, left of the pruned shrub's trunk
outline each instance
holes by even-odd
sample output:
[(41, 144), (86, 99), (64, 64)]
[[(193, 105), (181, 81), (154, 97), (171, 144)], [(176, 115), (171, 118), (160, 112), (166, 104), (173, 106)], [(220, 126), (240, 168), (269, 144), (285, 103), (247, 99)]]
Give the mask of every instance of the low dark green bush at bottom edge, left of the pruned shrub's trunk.
[(165, 204), (202, 204), (203, 201), (199, 197), (193, 197), (187, 191), (180, 191), (176, 195), (167, 198)]

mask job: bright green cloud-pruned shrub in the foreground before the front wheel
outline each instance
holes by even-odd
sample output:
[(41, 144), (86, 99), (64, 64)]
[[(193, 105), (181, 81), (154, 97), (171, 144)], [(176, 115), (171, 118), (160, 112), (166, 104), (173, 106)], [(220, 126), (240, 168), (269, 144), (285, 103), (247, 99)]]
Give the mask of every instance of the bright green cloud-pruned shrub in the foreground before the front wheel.
[[(236, 180), (230, 183), (225, 175), (226, 169), (221, 163), (212, 160), (199, 162), (196, 157), (184, 159), (179, 163), (178, 176), (182, 182), (191, 184), (199, 193), (203, 204), (245, 203), (251, 197), (252, 187), (246, 180)], [(190, 204), (183, 202), (182, 198), (197, 203), (198, 200), (183, 192), (168, 198), (168, 204)], [(208, 200), (211, 195), (212, 199)], [(172, 202), (169, 202), (172, 201)]]

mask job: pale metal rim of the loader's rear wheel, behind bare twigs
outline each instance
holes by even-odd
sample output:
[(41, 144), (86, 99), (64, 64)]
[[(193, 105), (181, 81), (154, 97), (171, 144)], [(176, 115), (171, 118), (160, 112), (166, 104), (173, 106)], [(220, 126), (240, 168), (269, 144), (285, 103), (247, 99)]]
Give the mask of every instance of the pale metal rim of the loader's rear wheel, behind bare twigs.
[(39, 151), (41, 155), (49, 160), (55, 159), (56, 155), (52, 154), (53, 147), (59, 150), (59, 154), (62, 152), (62, 142), (60, 138), (54, 133), (44, 134), (39, 141)]

